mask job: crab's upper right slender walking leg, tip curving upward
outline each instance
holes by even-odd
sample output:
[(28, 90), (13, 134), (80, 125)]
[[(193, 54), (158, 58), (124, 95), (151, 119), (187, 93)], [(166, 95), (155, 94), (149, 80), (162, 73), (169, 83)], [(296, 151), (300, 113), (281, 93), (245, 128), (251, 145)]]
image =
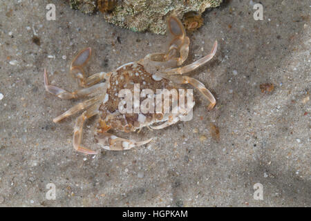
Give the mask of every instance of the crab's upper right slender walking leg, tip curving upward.
[(203, 64), (207, 63), (207, 61), (211, 60), (214, 55), (216, 54), (217, 50), (217, 41), (215, 41), (213, 48), (211, 49), (211, 53), (209, 55), (206, 55), (205, 57), (202, 57), (201, 59), (198, 59), (198, 61), (194, 61), (194, 63), (183, 66), (181, 68), (173, 68), (166, 70), (165, 72), (168, 75), (182, 75), (185, 73), (189, 73), (192, 70), (195, 70), (196, 68), (202, 66)]

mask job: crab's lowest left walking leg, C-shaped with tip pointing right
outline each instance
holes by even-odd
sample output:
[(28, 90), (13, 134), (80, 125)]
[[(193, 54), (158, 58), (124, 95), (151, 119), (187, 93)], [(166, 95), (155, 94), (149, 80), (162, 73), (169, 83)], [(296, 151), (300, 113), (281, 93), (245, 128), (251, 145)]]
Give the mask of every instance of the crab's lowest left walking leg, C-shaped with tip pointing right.
[(98, 112), (98, 105), (93, 105), (88, 110), (84, 111), (82, 115), (77, 118), (77, 122), (75, 123), (75, 127), (73, 128), (73, 148), (76, 151), (86, 154), (97, 154), (97, 151), (91, 151), (88, 148), (80, 146), (82, 142), (82, 131), (83, 131), (83, 124), (86, 119), (97, 115)]

